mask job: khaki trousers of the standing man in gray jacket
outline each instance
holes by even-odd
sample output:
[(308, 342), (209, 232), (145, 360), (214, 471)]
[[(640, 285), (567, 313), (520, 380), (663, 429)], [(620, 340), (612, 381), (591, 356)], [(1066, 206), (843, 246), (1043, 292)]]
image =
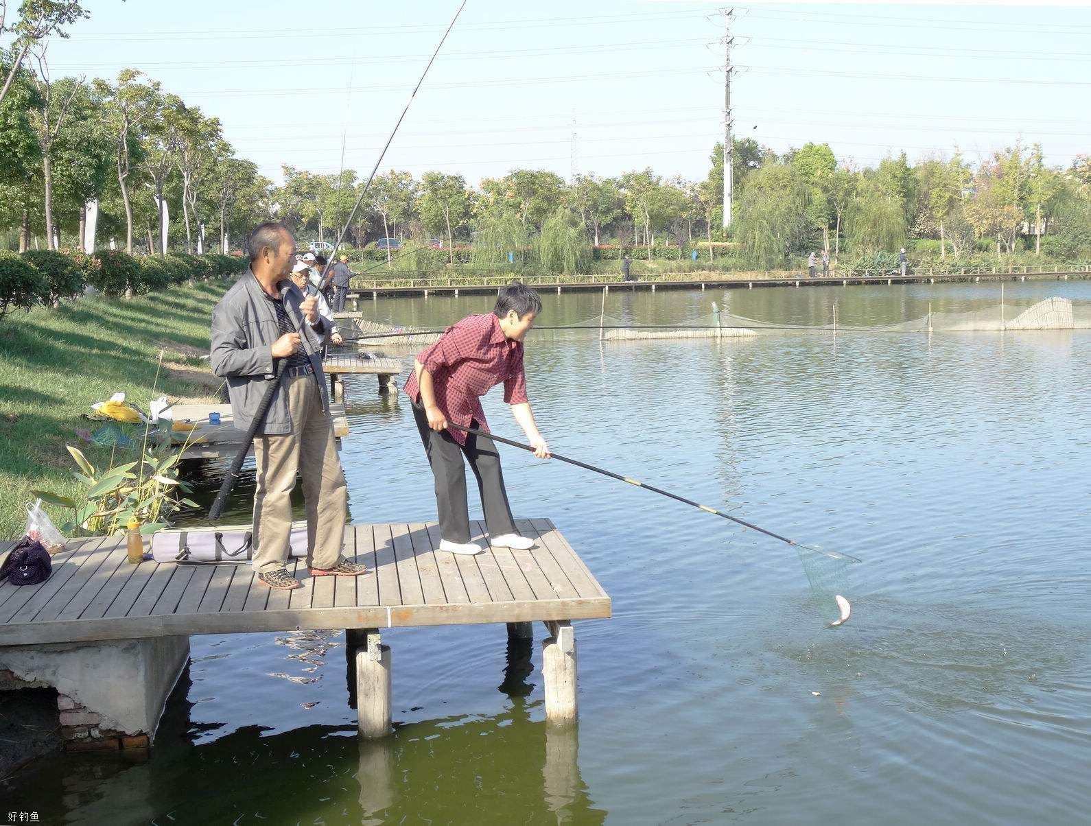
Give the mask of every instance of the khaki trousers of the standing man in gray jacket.
[(307, 505), (307, 565), (329, 568), (343, 559), (348, 518), (348, 489), (334, 443), (334, 423), (322, 411), (313, 375), (286, 379), (280, 392), (288, 393), (295, 430), (254, 438), (254, 570), (272, 571), (288, 561), (297, 472), (303, 478)]

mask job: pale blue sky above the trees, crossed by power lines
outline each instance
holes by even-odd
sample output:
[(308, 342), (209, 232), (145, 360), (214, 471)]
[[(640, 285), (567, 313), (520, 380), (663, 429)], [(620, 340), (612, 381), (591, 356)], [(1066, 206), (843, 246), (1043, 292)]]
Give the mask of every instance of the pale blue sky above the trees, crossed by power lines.
[[(145, 71), (220, 119), (237, 154), (365, 173), (459, 0), (87, 0), (53, 76)], [(873, 166), (1040, 142), (1091, 153), (1091, 8), (468, 0), (380, 168), (702, 179), (734, 134), (827, 142)], [(345, 146), (344, 160), (341, 154)]]

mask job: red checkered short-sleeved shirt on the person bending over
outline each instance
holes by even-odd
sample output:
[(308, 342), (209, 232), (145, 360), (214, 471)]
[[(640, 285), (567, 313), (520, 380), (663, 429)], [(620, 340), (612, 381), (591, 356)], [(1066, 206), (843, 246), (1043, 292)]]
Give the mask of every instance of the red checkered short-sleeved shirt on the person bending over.
[[(417, 357), (432, 376), (435, 404), (447, 421), (489, 431), (481, 409), (481, 396), (491, 387), (504, 383), (504, 402), (521, 405), (527, 399), (527, 381), (523, 372), (523, 342), (513, 342), (500, 328), (493, 313), (468, 315), (447, 327), (440, 340)], [(409, 374), (405, 393), (418, 402), (420, 385), (416, 370)], [(466, 444), (466, 433), (451, 431), (459, 444)]]

